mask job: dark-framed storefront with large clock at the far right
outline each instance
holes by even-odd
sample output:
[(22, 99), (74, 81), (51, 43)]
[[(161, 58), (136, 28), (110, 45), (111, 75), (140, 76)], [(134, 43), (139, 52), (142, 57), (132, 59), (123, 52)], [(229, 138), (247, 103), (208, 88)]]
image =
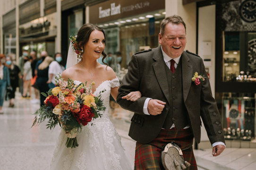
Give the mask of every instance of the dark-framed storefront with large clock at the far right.
[(216, 14), (215, 40), (211, 42), (215, 44), (215, 99), (226, 144), (256, 147), (256, 1), (199, 2), (199, 17), (211, 6)]

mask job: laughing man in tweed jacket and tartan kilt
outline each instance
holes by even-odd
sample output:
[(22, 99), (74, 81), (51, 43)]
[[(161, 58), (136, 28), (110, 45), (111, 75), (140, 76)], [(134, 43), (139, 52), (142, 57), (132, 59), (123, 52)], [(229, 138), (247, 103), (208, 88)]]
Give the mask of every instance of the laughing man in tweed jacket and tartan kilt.
[[(192, 81), (196, 72), (206, 75), (205, 66), (199, 56), (184, 51), (186, 25), (180, 16), (162, 21), (158, 41), (161, 46), (132, 56), (117, 96), (120, 106), (135, 112), (129, 130), (137, 141), (135, 169), (159, 170), (161, 149), (170, 142), (183, 149), (190, 169), (197, 169), (192, 144), (193, 138), (200, 142), (200, 116), (213, 145), (212, 155), (225, 148), (218, 108), (209, 79), (201, 78), (199, 85)], [(137, 90), (142, 94), (137, 101), (124, 97)]]

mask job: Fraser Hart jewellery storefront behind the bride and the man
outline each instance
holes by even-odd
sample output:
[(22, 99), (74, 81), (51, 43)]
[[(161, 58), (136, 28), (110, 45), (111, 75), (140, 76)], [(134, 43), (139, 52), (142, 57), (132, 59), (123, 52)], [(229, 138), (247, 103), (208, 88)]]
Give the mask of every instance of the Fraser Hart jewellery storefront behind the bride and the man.
[[(89, 23), (95, 23), (105, 31), (105, 53), (112, 54), (107, 62), (119, 79), (123, 74), (118, 73), (120, 70), (125, 73), (132, 54), (159, 46), (164, 8), (164, 0), (108, 0), (89, 7)], [(119, 52), (121, 61), (116, 57)]]

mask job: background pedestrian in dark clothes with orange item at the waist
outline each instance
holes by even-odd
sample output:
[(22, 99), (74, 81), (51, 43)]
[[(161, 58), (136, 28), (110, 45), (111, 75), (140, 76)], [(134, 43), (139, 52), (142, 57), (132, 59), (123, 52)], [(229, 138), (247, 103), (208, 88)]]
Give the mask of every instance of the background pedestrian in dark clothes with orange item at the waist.
[(31, 103), (39, 103), (39, 90), (37, 89), (37, 85), (35, 83), (35, 80), (36, 80), (36, 77), (37, 75), (35, 75), (35, 66), (36, 66), (36, 63), (39, 61), (36, 57), (36, 53), (34, 51), (30, 52), (30, 57), (32, 57), (32, 62), (31, 62), (31, 70), (32, 70), (32, 79), (31, 82), (33, 81), (33, 84), (32, 84), (32, 90), (34, 92), (34, 96), (35, 98), (33, 100), (31, 100)]

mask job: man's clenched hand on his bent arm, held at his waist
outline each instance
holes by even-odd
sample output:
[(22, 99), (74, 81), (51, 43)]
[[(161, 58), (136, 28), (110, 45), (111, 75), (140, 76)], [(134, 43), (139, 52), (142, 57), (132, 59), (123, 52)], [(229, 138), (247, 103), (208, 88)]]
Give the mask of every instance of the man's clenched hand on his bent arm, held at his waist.
[(161, 100), (151, 99), (148, 101), (147, 111), (150, 115), (159, 115), (166, 103)]

